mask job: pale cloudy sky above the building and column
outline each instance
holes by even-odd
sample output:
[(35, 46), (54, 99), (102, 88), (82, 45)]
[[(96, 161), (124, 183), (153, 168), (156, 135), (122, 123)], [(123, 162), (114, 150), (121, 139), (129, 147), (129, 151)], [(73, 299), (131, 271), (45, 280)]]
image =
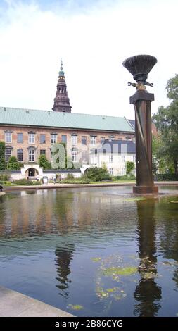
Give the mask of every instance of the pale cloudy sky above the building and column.
[(0, 106), (51, 110), (63, 58), (72, 112), (133, 119), (122, 62), (149, 54), (155, 113), (178, 71), (177, 13), (177, 0), (0, 0)]

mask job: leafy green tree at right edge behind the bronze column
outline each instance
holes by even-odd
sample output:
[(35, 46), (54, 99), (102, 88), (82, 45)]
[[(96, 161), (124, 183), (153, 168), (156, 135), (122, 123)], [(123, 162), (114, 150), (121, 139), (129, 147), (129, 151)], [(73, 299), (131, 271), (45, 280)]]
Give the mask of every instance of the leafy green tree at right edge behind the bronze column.
[(167, 97), (170, 105), (160, 106), (153, 115), (153, 122), (160, 131), (161, 144), (158, 154), (174, 164), (174, 173), (178, 173), (178, 75), (167, 81)]

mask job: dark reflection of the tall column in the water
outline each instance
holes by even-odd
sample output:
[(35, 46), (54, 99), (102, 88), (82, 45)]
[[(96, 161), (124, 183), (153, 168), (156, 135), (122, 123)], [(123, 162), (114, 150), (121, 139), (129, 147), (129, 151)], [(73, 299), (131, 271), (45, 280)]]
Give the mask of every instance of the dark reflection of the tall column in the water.
[(139, 242), (139, 273), (141, 280), (136, 286), (134, 298), (134, 314), (136, 316), (156, 316), (160, 308), (161, 289), (155, 282), (156, 249), (155, 249), (155, 201), (137, 201), (138, 211), (138, 242)]

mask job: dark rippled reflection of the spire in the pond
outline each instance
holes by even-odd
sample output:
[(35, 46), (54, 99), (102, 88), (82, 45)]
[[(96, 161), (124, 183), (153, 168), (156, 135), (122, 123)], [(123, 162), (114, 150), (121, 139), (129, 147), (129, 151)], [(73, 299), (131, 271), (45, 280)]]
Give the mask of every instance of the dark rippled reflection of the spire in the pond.
[(74, 245), (67, 243), (64, 244), (65, 247), (62, 248), (56, 248), (55, 254), (56, 254), (56, 266), (57, 266), (57, 273), (58, 277), (56, 277), (56, 280), (58, 280), (58, 289), (61, 289), (60, 294), (64, 296), (65, 298), (68, 298), (69, 292), (68, 288), (70, 285), (71, 280), (69, 279), (70, 275), (70, 262), (73, 258), (73, 252), (74, 252)]

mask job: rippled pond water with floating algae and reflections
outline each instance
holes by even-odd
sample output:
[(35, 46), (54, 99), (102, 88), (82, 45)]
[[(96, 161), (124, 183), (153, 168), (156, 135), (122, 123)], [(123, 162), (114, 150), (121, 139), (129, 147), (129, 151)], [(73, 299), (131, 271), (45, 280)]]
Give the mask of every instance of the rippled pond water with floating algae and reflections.
[(0, 285), (76, 316), (178, 316), (178, 187), (131, 192), (1, 196)]

